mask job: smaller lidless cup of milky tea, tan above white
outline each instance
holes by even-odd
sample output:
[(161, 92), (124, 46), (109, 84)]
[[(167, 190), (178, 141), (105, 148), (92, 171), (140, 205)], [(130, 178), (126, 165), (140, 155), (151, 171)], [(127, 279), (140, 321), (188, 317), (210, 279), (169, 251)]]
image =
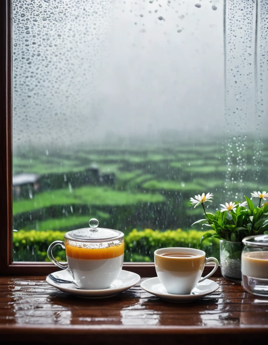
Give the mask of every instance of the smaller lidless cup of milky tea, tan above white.
[[(181, 254), (194, 255), (194, 257), (171, 257), (163, 254)], [(205, 264), (214, 261), (213, 270), (201, 278)], [(161, 248), (154, 252), (154, 263), (157, 276), (160, 283), (170, 294), (187, 295), (203, 280), (213, 275), (219, 266), (216, 258), (206, 259), (206, 253), (203, 250), (194, 248)], [(201, 278), (201, 279), (200, 279)]]

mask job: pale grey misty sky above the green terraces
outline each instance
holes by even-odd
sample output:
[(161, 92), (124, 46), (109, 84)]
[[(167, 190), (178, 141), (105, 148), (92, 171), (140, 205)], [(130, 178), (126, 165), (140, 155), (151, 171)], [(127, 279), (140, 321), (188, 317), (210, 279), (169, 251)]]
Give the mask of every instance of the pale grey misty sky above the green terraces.
[(14, 150), (256, 131), (251, 37), (227, 52), (224, 116), (223, 0), (35, 2), (13, 1)]

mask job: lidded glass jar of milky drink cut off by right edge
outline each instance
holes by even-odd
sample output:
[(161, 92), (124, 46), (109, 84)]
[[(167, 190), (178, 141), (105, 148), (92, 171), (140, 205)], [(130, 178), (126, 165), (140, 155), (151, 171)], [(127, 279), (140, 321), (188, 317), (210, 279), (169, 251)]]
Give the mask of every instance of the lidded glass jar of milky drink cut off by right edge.
[(250, 294), (268, 297), (268, 235), (248, 236), (242, 242), (243, 287)]

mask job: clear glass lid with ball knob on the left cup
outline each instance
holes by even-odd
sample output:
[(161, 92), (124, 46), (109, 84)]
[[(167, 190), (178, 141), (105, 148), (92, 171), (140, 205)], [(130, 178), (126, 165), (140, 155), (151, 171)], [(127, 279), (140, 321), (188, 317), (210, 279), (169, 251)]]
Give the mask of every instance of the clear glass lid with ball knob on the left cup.
[(121, 231), (99, 228), (99, 221), (95, 218), (90, 219), (89, 226), (89, 228), (69, 231), (64, 237), (79, 242), (107, 242), (124, 237)]

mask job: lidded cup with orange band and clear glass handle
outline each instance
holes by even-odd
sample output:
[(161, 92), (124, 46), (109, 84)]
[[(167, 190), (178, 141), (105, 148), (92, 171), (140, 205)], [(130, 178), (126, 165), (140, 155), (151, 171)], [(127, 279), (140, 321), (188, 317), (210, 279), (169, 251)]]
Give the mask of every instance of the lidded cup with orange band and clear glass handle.
[[(48, 248), (50, 260), (68, 269), (74, 283), (82, 289), (106, 289), (121, 272), (124, 260), (124, 234), (113, 229), (99, 228), (93, 218), (90, 228), (69, 231), (65, 241), (55, 241)], [(52, 254), (54, 246), (66, 250), (67, 263), (59, 263)]]

